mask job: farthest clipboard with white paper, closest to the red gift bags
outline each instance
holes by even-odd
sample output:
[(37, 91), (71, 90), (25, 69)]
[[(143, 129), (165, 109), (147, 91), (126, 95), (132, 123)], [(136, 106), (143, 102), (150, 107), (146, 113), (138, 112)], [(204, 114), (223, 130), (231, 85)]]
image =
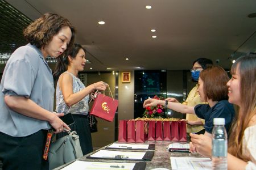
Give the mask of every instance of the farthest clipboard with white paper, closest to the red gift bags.
[[(134, 146), (134, 147), (133, 147)], [(143, 147), (141, 147), (143, 146)], [(144, 146), (148, 146), (147, 148)], [(106, 149), (121, 149), (121, 150), (155, 150), (155, 144), (149, 144), (149, 145), (136, 145), (136, 144), (124, 144), (124, 143), (113, 143), (112, 145), (109, 145), (105, 147)]]

